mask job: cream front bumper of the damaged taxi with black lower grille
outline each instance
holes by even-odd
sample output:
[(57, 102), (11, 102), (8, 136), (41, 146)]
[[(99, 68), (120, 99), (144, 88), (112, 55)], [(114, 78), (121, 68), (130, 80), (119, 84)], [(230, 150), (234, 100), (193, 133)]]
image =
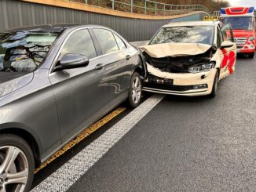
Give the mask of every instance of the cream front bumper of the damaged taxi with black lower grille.
[[(155, 74), (149, 74), (144, 81), (143, 90), (146, 92), (158, 92), (177, 96), (204, 96), (209, 95), (214, 85), (214, 78), (217, 69), (207, 72), (191, 74), (165, 73), (165, 77), (160, 77), (163, 81), (152, 82), (151, 77), (159, 78)], [(166, 83), (168, 79), (173, 83)], [(167, 81), (166, 81), (167, 80)]]

